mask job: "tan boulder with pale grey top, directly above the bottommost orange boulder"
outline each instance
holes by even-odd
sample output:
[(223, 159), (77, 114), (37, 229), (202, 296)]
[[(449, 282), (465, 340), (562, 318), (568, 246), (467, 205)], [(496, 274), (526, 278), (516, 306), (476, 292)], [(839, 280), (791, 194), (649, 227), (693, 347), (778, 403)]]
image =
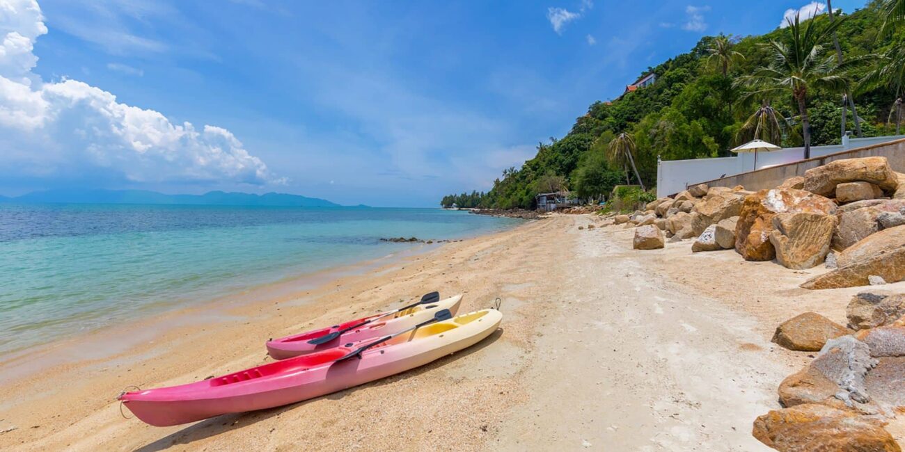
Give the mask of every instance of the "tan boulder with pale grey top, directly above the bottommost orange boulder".
[(851, 335), (830, 339), (804, 369), (779, 384), (779, 401), (785, 407), (803, 403), (872, 412), (864, 377), (877, 365), (871, 348)]

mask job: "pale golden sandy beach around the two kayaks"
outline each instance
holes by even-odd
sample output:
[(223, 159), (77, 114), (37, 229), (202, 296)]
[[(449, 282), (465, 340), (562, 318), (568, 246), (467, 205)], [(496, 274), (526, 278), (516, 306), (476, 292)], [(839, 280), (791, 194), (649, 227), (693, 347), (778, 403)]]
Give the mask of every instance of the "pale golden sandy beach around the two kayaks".
[[(31, 365), (7, 360), (0, 448), (768, 450), (752, 422), (779, 408), (776, 386), (811, 359), (772, 344), (773, 330), (808, 310), (844, 323), (857, 287), (808, 291), (798, 284), (822, 268), (692, 254), (690, 242), (639, 252), (633, 229), (602, 224), (554, 215), (317, 284), (110, 327), (43, 347)], [(462, 312), (500, 297), (500, 330), (412, 372), (274, 410), (154, 428), (124, 419), (115, 401), (129, 385), (266, 363), (269, 337), (434, 289), (463, 293)], [(901, 426), (889, 430), (905, 440)]]

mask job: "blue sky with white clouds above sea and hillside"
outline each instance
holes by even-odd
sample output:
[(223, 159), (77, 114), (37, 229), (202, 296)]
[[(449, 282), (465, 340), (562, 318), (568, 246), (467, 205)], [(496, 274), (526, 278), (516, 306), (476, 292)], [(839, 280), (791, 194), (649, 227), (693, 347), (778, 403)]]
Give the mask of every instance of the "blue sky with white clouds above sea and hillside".
[(0, 0), (0, 194), (432, 207), (489, 190), (701, 37), (767, 33), (799, 10), (825, 5)]

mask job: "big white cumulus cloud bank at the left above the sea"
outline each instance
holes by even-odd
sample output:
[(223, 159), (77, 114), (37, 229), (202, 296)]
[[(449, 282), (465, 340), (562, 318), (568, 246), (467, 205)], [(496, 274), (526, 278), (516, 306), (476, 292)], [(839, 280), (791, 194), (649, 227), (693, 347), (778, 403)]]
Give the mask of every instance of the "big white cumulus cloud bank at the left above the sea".
[(34, 0), (0, 0), (0, 178), (104, 174), (129, 183), (284, 181), (224, 128), (174, 124), (79, 80), (44, 82), (32, 71), (38, 61), (33, 44), (44, 33)]

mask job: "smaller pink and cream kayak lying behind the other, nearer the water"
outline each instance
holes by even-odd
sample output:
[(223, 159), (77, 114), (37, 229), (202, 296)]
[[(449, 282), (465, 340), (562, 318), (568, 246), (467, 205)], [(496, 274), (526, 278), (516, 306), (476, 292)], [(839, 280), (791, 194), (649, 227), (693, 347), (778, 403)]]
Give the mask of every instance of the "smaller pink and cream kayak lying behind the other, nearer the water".
[[(376, 338), (381, 335), (394, 334), (403, 331), (413, 325), (424, 322), (434, 313), (443, 309), (449, 309), (453, 315), (459, 310), (462, 303), (462, 295), (449, 297), (435, 303), (426, 305), (413, 306), (404, 311), (386, 315), (384, 318), (377, 319), (384, 314), (371, 315), (369, 317), (352, 320), (344, 324), (334, 325), (329, 328), (321, 328), (319, 330), (309, 331), (306, 333), (293, 334), (291, 336), (281, 337), (279, 339), (271, 339), (267, 341), (267, 353), (273, 359), (284, 360), (300, 354), (314, 353), (321, 350), (338, 347), (342, 344), (348, 344), (363, 341), (370, 338)], [(321, 336), (348, 329), (351, 326), (359, 325), (366, 320), (372, 320), (372, 323), (349, 330), (347, 333), (339, 334), (324, 344), (310, 344), (310, 340)]]

